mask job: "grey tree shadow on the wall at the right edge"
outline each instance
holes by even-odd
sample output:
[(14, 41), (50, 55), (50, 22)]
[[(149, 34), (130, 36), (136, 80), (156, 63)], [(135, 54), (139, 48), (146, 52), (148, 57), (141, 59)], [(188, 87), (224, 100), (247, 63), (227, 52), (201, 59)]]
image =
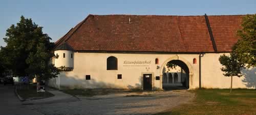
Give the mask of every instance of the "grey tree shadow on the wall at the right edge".
[(243, 69), (242, 74), (244, 75), (244, 79), (247, 88), (256, 88), (256, 68)]

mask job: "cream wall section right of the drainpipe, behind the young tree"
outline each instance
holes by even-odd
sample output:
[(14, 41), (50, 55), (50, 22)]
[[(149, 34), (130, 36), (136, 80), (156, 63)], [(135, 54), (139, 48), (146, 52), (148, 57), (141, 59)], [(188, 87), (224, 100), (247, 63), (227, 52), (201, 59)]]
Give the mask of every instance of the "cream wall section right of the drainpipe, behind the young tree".
[[(202, 87), (204, 88), (230, 88), (230, 77), (225, 77), (221, 71), (222, 65), (219, 57), (223, 53), (206, 53), (202, 59)], [(254, 88), (256, 85), (255, 68), (244, 69), (244, 76), (233, 77), (233, 88)]]

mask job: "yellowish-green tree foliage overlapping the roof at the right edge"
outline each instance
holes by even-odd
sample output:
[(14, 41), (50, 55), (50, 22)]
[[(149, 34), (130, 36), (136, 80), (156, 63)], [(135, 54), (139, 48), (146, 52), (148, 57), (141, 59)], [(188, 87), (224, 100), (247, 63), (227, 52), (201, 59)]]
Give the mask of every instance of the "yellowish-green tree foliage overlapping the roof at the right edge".
[(241, 39), (233, 46), (232, 50), (237, 54), (238, 60), (247, 68), (256, 66), (256, 14), (243, 18), (242, 30), (238, 31)]

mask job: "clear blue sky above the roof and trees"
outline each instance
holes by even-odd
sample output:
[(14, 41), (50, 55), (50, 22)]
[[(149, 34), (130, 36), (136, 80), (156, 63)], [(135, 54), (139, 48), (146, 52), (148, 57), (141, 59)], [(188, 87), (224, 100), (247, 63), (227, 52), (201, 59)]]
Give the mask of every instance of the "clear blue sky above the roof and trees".
[(130, 15), (237, 15), (255, 14), (255, 0), (194, 0), (194, 1), (75, 1), (75, 0), (1, 0), (0, 1), (0, 46), (6, 46), (3, 38), (11, 24), (20, 16), (31, 18), (44, 27), (43, 32), (57, 41), (89, 14)]

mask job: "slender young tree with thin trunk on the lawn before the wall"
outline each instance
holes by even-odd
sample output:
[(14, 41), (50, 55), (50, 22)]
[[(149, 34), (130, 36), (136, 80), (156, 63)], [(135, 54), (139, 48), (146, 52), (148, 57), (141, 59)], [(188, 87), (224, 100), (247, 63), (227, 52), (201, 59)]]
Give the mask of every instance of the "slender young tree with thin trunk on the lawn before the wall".
[(230, 94), (232, 93), (232, 80), (233, 76), (238, 76), (241, 77), (241, 70), (244, 67), (244, 64), (239, 62), (238, 60), (238, 55), (234, 52), (230, 53), (230, 56), (228, 55), (221, 55), (219, 57), (219, 61), (221, 63), (222, 67), (221, 71), (224, 72), (224, 76), (231, 77), (231, 83), (230, 83)]

